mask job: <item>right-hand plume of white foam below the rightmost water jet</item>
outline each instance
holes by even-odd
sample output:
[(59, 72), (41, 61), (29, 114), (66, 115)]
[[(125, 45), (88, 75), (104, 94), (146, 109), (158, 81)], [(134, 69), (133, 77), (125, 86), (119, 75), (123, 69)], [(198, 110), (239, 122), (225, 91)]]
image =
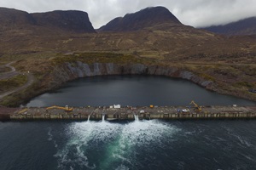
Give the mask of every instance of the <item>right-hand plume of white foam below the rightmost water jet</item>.
[[(178, 131), (177, 127), (157, 120), (136, 121), (125, 124), (119, 139), (112, 147), (114, 161), (122, 162), (120, 169), (133, 167), (137, 160), (137, 150), (150, 150), (154, 145), (161, 145), (162, 140), (172, 139), (172, 134)], [(125, 167), (125, 165), (128, 165)], [(118, 168), (119, 169), (119, 168)]]

